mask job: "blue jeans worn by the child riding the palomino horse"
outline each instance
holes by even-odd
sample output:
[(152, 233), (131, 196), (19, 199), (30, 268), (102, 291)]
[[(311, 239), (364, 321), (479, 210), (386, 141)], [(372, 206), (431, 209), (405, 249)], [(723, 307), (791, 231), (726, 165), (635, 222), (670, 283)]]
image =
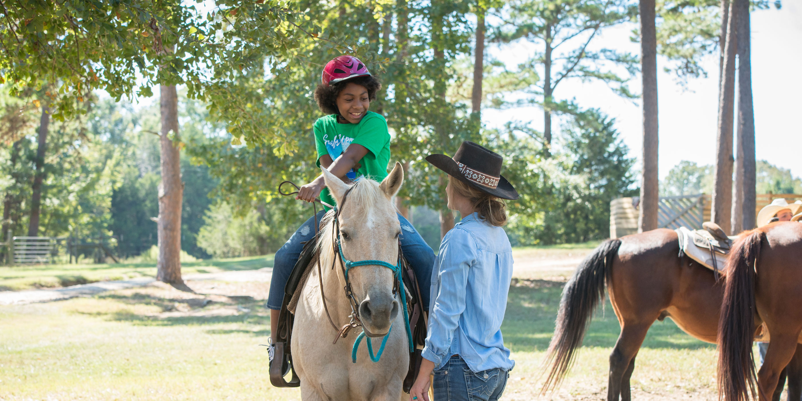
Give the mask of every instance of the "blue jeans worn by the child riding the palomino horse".
[[(323, 214), (319, 212), (315, 217), (318, 224)], [(301, 242), (310, 241), (314, 237), (314, 218), (310, 217), (306, 223), (287, 240), (281, 249), (278, 249), (273, 258), (273, 278), (270, 280), (270, 294), (267, 298), (267, 307), (273, 310), (282, 309), (284, 301), (284, 286), (290, 280), (295, 263), (301, 257), (303, 244)], [(435, 265), (435, 253), (431, 247), (423, 241), (423, 237), (412, 227), (409, 221), (399, 213), (401, 222), (401, 250), (403, 256), (415, 271), (420, 286), (420, 297), (423, 298), (423, 309), (429, 310), (429, 287), (431, 286), (431, 268)]]

